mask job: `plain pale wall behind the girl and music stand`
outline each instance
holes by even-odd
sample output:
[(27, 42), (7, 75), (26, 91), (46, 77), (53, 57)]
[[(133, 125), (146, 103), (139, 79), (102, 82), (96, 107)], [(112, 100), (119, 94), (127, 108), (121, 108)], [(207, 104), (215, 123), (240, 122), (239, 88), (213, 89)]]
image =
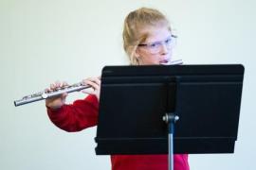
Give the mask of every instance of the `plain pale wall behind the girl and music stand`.
[[(174, 59), (186, 64), (242, 63), (246, 68), (234, 154), (190, 155), (192, 170), (255, 169), (255, 0), (0, 0), (0, 169), (110, 169), (96, 156), (96, 127), (67, 133), (45, 102), (13, 101), (55, 80), (100, 76), (104, 65), (128, 64), (122, 24), (136, 8), (157, 8), (178, 35)], [(83, 98), (71, 93), (68, 102)], [(217, 125), (216, 125), (217, 126)]]

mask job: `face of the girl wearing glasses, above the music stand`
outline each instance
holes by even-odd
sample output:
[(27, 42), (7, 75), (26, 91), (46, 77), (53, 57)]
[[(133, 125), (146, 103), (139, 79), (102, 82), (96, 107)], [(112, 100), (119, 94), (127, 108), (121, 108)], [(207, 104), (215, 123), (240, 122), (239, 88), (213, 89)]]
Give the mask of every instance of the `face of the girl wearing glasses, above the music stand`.
[(148, 27), (143, 31), (149, 33), (149, 36), (145, 42), (141, 42), (137, 46), (135, 57), (139, 60), (139, 65), (158, 65), (170, 62), (173, 54), (174, 37), (168, 27)]

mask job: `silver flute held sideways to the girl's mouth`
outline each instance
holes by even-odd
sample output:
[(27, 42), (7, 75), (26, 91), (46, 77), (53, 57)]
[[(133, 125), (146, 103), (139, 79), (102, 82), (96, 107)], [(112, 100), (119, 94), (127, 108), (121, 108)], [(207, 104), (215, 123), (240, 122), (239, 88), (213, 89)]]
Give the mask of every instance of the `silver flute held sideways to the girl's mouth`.
[[(182, 59), (178, 59), (178, 60), (174, 60), (171, 62), (163, 63), (162, 65), (180, 65), (182, 63), (183, 63)], [(60, 88), (56, 88), (55, 90), (42, 91), (39, 93), (33, 93), (30, 95), (26, 95), (20, 100), (15, 100), (14, 105), (15, 105), (15, 107), (17, 107), (17, 106), (25, 105), (28, 103), (44, 100), (44, 99), (47, 99), (50, 97), (58, 96), (62, 93), (79, 92), (79, 91), (82, 91), (83, 89), (87, 89), (90, 87), (91, 86), (89, 86), (89, 85), (82, 84), (82, 82), (72, 84), (72, 85), (66, 85), (66, 86), (63, 86)]]

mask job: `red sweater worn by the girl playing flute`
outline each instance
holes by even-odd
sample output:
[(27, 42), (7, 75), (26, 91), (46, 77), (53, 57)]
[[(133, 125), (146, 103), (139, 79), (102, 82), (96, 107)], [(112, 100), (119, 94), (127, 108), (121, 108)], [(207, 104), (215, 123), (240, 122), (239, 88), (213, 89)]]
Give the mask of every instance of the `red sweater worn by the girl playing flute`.
[[(50, 120), (65, 131), (80, 131), (98, 123), (99, 102), (96, 96), (88, 95), (76, 100), (72, 105), (64, 105), (59, 110), (47, 113)], [(167, 155), (112, 155), (112, 170), (167, 170)], [(174, 170), (189, 170), (188, 155), (174, 155)]]

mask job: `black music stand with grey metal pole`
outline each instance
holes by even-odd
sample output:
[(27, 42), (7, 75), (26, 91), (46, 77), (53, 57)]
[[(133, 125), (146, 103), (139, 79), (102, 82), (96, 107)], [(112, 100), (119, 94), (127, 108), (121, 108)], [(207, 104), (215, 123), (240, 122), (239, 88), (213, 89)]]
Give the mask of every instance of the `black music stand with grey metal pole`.
[(173, 153), (233, 153), (243, 77), (240, 64), (104, 67), (96, 154), (169, 153), (172, 169)]

